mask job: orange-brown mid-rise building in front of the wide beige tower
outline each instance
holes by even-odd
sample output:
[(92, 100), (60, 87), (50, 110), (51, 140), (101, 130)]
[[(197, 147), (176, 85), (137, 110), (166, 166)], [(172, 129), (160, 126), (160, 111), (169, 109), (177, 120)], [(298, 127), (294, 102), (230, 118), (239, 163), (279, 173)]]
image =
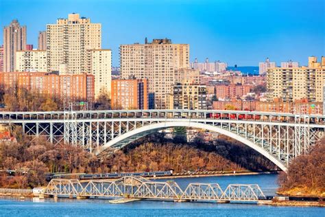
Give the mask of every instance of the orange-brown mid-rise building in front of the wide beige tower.
[(112, 80), (112, 109), (148, 109), (148, 80)]

